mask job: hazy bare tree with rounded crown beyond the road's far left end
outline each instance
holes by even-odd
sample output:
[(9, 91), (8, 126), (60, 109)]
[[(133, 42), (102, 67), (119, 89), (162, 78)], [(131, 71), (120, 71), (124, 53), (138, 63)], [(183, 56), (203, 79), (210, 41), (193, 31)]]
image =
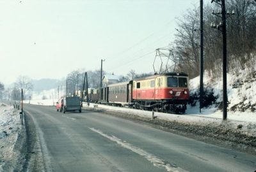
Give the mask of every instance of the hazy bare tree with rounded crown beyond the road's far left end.
[(28, 76), (19, 76), (14, 85), (19, 90), (23, 89), (24, 99), (26, 99), (27, 92), (33, 89), (33, 84)]

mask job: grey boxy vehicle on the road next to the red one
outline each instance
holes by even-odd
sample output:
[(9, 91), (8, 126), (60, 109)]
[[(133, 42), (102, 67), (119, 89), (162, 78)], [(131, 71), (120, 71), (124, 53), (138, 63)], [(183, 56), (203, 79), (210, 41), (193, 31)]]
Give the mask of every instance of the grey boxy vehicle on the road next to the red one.
[(79, 97), (65, 97), (63, 99), (63, 113), (66, 111), (82, 111), (82, 103)]

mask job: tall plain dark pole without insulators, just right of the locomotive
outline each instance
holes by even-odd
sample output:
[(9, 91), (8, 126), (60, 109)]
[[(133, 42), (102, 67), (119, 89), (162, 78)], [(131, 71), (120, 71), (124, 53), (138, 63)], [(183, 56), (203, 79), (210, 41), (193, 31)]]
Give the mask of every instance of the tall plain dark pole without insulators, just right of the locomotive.
[(204, 94), (204, 18), (203, 0), (200, 0), (200, 113)]

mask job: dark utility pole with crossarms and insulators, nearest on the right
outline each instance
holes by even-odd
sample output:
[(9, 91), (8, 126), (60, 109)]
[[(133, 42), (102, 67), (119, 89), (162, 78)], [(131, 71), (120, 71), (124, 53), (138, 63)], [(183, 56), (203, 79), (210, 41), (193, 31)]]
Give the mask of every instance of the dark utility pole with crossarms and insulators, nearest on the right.
[(227, 30), (226, 30), (226, 15), (234, 15), (235, 12), (232, 10), (232, 13), (229, 13), (229, 11), (226, 11), (225, 6), (225, 0), (211, 0), (211, 3), (217, 3), (221, 6), (221, 12), (219, 10), (214, 11), (212, 10), (212, 14), (216, 15), (221, 18), (222, 23), (215, 25), (211, 23), (211, 27), (214, 29), (218, 29), (222, 32), (222, 43), (223, 43), (223, 120), (227, 120), (227, 102), (228, 102), (228, 96), (227, 96)]

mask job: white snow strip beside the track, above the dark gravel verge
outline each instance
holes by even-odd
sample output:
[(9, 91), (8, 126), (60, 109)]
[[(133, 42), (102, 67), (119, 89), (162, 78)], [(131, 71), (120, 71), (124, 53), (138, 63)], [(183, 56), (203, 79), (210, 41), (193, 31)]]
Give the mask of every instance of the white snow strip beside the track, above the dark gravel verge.
[[(84, 107), (88, 107), (86, 103)], [(130, 115), (137, 115), (144, 118), (152, 118), (152, 111), (145, 110), (134, 110), (131, 108), (121, 108), (116, 106), (106, 106), (103, 104), (90, 103), (90, 108), (102, 108), (108, 111), (115, 111), (119, 113), (127, 113)], [(212, 127), (223, 125), (222, 112), (214, 111), (211, 109), (205, 110), (202, 113), (198, 112), (196, 107), (189, 107), (186, 114), (177, 115), (170, 113), (154, 112), (154, 117), (158, 120), (165, 120), (170, 122), (180, 122), (184, 124), (195, 124), (195, 125), (212, 125)], [(255, 113), (228, 113), (228, 119), (225, 124), (232, 129), (237, 129), (239, 125), (239, 131), (252, 136), (256, 136), (256, 114)]]

